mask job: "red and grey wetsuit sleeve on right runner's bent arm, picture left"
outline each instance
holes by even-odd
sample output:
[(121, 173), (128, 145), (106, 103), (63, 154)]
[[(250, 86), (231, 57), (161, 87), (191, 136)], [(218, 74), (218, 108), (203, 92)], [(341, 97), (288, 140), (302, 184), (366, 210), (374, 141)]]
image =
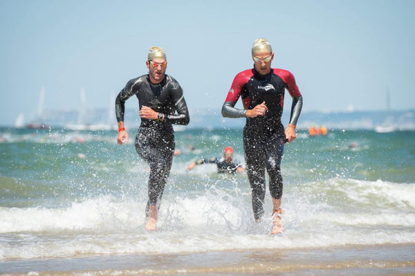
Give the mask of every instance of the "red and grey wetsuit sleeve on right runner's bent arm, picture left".
[(235, 104), (241, 96), (243, 85), (248, 82), (249, 77), (246, 75), (246, 71), (239, 73), (233, 80), (232, 86), (230, 86), (228, 96), (222, 106), (222, 116), (228, 118), (242, 118), (246, 117), (246, 111), (249, 107), (249, 98), (243, 98), (243, 108), (237, 109)]

